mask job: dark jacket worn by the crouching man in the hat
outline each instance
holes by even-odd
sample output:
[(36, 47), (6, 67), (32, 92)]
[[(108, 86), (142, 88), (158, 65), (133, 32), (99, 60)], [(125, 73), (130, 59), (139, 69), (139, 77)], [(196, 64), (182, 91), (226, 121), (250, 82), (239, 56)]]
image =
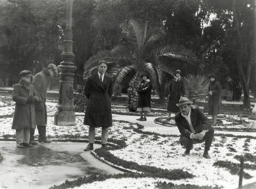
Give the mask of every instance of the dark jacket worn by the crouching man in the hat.
[[(178, 130), (181, 133), (181, 138), (183, 136), (190, 138), (190, 134), (192, 132), (191, 132), (190, 125), (189, 125), (187, 119), (181, 115), (181, 112), (176, 114), (174, 119), (175, 119), (176, 125), (178, 127)], [(191, 108), (190, 119), (191, 119), (192, 126), (193, 126), (194, 130), (196, 131), (196, 133), (200, 133), (203, 130), (210, 131), (210, 127), (211, 127), (210, 122), (209, 122), (208, 118), (206, 117), (206, 115), (204, 115), (203, 112), (199, 108)]]

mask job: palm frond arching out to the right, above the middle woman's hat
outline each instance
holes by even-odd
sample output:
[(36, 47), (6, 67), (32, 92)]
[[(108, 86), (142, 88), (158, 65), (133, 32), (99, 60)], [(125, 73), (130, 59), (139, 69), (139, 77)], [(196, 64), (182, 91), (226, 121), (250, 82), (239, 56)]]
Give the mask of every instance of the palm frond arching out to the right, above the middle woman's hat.
[(191, 50), (178, 45), (168, 45), (161, 47), (155, 53), (158, 57), (170, 57), (177, 60), (186, 61), (191, 64), (194, 64), (194, 62), (198, 61), (197, 55), (194, 54)]

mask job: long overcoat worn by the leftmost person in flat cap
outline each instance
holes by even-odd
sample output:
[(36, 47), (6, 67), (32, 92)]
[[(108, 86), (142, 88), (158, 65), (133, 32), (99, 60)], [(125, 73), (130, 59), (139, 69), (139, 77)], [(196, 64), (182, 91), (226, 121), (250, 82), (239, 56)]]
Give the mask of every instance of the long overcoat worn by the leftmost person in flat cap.
[(27, 99), (30, 96), (33, 96), (38, 100), (38, 95), (33, 85), (23, 85), (19, 82), (14, 86), (12, 99), (16, 104), (12, 129), (28, 129), (36, 127), (34, 103), (27, 103)]

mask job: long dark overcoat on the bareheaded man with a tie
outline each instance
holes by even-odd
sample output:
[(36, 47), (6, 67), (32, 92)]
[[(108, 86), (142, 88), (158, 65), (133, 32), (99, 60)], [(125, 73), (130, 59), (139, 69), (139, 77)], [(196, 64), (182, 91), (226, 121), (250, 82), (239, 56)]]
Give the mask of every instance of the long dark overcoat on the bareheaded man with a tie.
[(101, 82), (98, 73), (90, 75), (85, 82), (84, 93), (88, 99), (84, 125), (103, 128), (112, 126), (110, 104), (113, 93), (112, 77), (105, 73)]

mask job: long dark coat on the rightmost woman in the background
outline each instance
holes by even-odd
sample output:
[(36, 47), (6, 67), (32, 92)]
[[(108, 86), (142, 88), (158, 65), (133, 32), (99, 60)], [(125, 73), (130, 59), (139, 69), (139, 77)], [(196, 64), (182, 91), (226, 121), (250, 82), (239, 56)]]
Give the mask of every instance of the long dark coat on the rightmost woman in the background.
[(208, 114), (217, 115), (219, 114), (219, 98), (221, 93), (220, 83), (218, 81), (210, 81), (208, 92), (212, 91), (212, 95), (208, 95)]

